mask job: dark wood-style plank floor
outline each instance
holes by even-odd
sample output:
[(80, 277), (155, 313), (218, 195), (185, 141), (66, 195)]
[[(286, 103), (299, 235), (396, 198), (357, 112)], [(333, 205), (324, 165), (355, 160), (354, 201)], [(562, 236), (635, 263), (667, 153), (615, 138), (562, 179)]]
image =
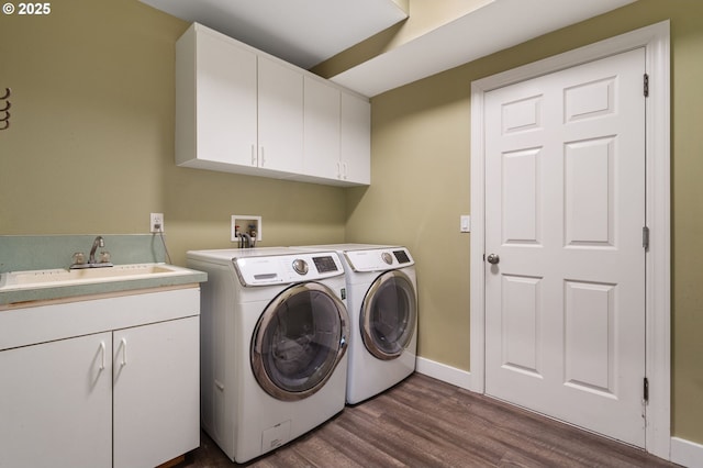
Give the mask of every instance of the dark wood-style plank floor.
[[(232, 467), (202, 433), (179, 467)], [(616, 442), (415, 374), (245, 465), (294, 467), (673, 467)]]

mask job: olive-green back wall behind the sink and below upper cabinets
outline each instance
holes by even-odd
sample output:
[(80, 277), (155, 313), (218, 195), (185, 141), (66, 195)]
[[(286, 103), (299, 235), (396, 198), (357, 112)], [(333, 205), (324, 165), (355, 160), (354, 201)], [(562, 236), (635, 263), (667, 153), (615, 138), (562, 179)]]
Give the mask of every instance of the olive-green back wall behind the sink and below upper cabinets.
[(261, 246), (344, 241), (342, 188), (175, 165), (174, 47), (187, 27), (136, 0), (0, 14), (0, 89), (12, 88), (0, 235), (147, 233), (163, 212), (181, 265), (188, 249), (236, 246), (232, 214), (263, 216)]

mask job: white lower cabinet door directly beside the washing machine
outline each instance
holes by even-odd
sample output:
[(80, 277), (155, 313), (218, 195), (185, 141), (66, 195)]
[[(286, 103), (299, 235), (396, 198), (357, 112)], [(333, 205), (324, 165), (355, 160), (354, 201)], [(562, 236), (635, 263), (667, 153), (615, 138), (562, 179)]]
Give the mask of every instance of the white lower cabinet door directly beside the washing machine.
[(113, 347), (113, 466), (158, 466), (200, 446), (199, 317), (116, 331)]

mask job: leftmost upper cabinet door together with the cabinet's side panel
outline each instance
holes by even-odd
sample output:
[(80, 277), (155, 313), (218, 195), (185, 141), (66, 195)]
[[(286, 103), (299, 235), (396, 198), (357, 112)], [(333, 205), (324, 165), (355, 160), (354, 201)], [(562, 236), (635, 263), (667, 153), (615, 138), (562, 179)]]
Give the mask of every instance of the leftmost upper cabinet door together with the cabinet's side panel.
[(256, 166), (256, 54), (207, 30), (187, 34), (177, 43), (177, 163)]

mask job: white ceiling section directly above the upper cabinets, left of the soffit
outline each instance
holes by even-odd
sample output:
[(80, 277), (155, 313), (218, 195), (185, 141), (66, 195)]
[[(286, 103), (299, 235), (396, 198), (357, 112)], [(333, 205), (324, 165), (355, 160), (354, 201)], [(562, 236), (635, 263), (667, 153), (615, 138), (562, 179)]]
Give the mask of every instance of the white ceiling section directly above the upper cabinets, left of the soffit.
[(309, 69), (408, 18), (393, 0), (141, 0)]

